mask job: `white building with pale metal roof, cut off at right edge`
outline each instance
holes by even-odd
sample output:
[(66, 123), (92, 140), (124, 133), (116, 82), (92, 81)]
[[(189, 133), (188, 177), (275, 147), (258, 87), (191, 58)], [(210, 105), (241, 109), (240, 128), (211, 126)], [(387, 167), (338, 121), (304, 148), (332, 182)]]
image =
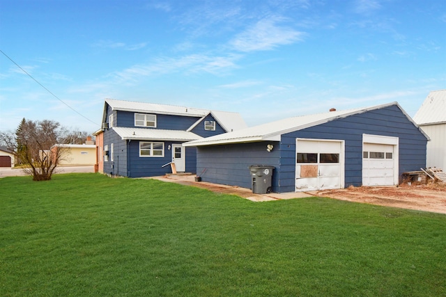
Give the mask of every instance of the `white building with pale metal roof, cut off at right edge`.
[(446, 90), (429, 93), (413, 120), (431, 138), (426, 166), (446, 170)]

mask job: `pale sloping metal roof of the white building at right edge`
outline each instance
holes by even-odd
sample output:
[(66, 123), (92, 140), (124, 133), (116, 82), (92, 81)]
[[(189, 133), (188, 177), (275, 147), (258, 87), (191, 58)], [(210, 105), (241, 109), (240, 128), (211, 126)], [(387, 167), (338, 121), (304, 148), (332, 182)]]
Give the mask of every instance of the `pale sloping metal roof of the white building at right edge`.
[(434, 90), (427, 95), (413, 117), (418, 125), (433, 125), (446, 122), (446, 90)]

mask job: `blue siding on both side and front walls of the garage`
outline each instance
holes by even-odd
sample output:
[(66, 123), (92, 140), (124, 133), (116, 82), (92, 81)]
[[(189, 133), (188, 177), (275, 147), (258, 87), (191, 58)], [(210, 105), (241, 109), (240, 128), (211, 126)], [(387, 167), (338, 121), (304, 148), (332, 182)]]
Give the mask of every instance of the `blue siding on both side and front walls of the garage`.
[(251, 188), (247, 166), (275, 166), (272, 191), (295, 191), (295, 138), (345, 141), (345, 186), (362, 184), (362, 134), (399, 137), (399, 175), (426, 166), (426, 138), (397, 106), (387, 106), (322, 125), (283, 134), (266, 151), (268, 142), (198, 147), (197, 172), (203, 181)]

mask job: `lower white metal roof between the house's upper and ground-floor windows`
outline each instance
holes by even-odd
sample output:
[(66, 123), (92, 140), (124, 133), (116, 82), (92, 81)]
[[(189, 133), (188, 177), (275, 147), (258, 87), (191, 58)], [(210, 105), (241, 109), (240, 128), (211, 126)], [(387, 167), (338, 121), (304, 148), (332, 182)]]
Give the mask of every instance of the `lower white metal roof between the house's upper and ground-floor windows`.
[(195, 141), (201, 136), (182, 130), (112, 127), (123, 140), (138, 141)]

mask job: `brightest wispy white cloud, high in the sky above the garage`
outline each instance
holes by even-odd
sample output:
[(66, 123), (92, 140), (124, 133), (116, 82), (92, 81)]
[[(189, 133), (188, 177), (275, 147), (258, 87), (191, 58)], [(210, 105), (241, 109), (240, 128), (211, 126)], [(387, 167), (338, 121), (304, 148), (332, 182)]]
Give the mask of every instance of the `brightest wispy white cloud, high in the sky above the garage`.
[(246, 31), (236, 35), (229, 43), (238, 51), (266, 51), (279, 45), (302, 40), (303, 33), (286, 26), (278, 26), (280, 18), (262, 19)]

